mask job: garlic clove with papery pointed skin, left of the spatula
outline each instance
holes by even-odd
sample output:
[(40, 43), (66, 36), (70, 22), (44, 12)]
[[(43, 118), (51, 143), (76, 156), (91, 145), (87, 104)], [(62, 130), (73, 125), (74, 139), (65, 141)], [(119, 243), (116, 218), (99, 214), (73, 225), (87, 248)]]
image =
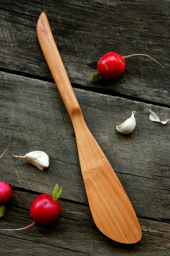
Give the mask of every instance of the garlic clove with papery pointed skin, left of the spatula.
[(31, 151), (27, 153), (25, 156), (16, 156), (14, 157), (20, 157), (24, 160), (27, 160), (32, 165), (36, 166), (40, 170), (43, 170), (47, 168), (50, 164), (48, 155), (43, 151)]

